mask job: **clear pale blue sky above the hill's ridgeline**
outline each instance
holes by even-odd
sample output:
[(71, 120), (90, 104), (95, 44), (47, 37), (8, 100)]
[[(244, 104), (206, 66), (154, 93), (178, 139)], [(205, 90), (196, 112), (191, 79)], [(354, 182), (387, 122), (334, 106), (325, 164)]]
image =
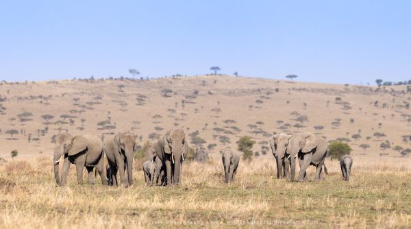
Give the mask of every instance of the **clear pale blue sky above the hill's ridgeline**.
[(0, 80), (411, 80), (411, 1), (1, 1)]

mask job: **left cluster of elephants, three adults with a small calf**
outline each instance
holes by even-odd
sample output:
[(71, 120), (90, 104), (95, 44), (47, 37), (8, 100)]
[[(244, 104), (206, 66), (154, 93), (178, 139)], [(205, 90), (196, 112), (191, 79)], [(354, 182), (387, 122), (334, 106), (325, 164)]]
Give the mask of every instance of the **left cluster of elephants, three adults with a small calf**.
[[(92, 171), (96, 168), (103, 185), (119, 186), (117, 171), (120, 173), (121, 186), (133, 183), (134, 150), (136, 136), (120, 133), (107, 138), (104, 142), (98, 136), (80, 134), (71, 136), (60, 134), (56, 139), (53, 165), (55, 182), (66, 184), (70, 165), (75, 164), (77, 182), (82, 183), (83, 169), (88, 171), (88, 184), (94, 184)], [(161, 184), (179, 184), (182, 162), (188, 153), (186, 136), (181, 129), (166, 132), (147, 149), (151, 157), (143, 165), (147, 184), (153, 184), (153, 171), (158, 170), (157, 178), (162, 174)], [(108, 160), (107, 176), (104, 173), (104, 155)], [(59, 173), (60, 158), (64, 156), (63, 169)], [(155, 162), (155, 165), (154, 165)], [(158, 179), (157, 179), (158, 182)]]

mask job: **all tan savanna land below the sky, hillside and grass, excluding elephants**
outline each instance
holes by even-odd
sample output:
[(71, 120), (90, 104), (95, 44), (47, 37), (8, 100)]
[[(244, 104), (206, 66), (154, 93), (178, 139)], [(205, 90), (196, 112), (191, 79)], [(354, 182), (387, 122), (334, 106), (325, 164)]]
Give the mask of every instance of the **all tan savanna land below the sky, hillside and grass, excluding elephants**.
[[(0, 227), (408, 228), (408, 90), (227, 75), (0, 82)], [(183, 128), (190, 147), (210, 156), (184, 162), (181, 186), (146, 187), (140, 162), (128, 189), (98, 179), (90, 186), (86, 173), (78, 186), (74, 166), (67, 186), (55, 184), (56, 134), (133, 132), (142, 146), (171, 128)], [(347, 143), (351, 181), (329, 159), (323, 182), (275, 178), (268, 141), (279, 132)], [(220, 152), (246, 135), (256, 141), (252, 160), (241, 158), (236, 181), (225, 184)]]

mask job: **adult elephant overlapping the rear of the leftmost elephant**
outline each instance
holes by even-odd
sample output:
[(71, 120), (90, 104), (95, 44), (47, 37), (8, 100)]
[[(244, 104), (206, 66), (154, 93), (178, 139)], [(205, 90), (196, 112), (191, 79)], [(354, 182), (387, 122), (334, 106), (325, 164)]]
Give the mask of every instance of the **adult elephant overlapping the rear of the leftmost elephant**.
[[(110, 165), (113, 186), (118, 186), (117, 171), (120, 171), (121, 186), (133, 184), (133, 157), (136, 137), (131, 133), (118, 133), (107, 138), (104, 152)], [(127, 171), (127, 178), (125, 172)]]

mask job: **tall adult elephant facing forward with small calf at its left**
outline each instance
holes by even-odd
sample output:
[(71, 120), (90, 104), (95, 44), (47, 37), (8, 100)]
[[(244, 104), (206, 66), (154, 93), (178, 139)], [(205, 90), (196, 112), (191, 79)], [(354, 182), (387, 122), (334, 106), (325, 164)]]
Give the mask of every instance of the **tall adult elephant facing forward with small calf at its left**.
[(165, 165), (166, 185), (178, 185), (183, 161), (188, 154), (188, 143), (184, 130), (169, 130), (155, 144), (155, 154)]

